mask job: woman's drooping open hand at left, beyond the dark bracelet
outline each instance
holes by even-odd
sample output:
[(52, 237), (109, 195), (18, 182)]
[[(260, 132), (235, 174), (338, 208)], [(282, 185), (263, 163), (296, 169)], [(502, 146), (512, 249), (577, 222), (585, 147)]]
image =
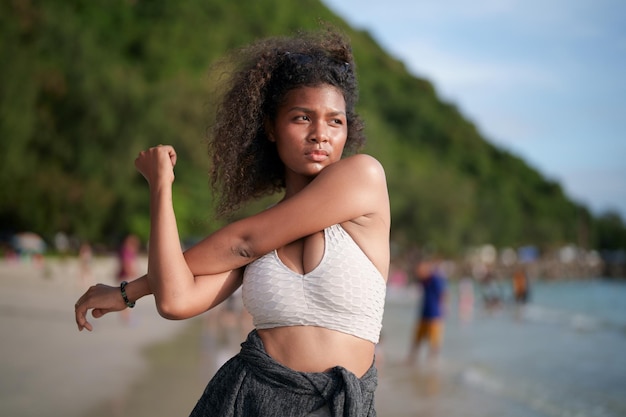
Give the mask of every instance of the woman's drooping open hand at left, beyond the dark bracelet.
[(106, 313), (112, 311), (121, 311), (126, 307), (126, 303), (122, 298), (119, 287), (110, 285), (97, 284), (90, 287), (74, 305), (74, 314), (76, 315), (76, 324), (78, 330), (93, 330), (91, 323), (87, 321), (87, 311), (93, 309), (91, 315), (94, 318), (100, 318)]

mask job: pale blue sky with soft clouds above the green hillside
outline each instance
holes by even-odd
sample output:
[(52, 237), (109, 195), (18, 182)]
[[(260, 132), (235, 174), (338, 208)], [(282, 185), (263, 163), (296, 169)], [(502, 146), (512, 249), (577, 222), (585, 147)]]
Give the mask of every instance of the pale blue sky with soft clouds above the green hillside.
[(626, 1), (323, 1), (489, 142), (626, 221)]

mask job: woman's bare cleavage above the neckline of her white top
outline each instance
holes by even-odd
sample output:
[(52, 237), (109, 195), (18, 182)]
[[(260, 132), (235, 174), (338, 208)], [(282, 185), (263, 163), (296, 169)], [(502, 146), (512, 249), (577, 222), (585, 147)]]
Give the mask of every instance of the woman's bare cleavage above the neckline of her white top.
[(276, 254), (287, 268), (306, 275), (322, 262), (324, 249), (324, 232), (317, 232), (278, 248)]

